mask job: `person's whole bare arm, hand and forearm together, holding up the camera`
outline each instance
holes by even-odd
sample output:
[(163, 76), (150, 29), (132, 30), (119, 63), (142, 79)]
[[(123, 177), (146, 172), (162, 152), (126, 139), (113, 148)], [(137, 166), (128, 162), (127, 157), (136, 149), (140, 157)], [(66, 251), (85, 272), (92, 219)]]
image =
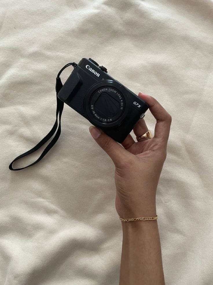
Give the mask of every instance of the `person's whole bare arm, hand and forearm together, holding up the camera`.
[[(93, 138), (115, 164), (115, 207), (123, 219), (155, 216), (156, 189), (172, 122), (170, 114), (155, 98), (141, 92), (138, 96), (146, 101), (156, 119), (154, 137), (150, 136), (144, 119), (133, 128), (137, 142), (129, 134), (122, 146), (97, 127), (90, 127)], [(157, 221), (121, 223), (120, 285), (164, 285)]]

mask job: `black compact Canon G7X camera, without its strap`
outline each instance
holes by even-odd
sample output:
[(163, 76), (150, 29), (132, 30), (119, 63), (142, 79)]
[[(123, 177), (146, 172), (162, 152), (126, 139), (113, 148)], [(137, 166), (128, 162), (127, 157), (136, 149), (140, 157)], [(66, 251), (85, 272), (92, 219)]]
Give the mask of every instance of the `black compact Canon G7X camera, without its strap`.
[(58, 98), (119, 143), (149, 107), (91, 58), (74, 67)]

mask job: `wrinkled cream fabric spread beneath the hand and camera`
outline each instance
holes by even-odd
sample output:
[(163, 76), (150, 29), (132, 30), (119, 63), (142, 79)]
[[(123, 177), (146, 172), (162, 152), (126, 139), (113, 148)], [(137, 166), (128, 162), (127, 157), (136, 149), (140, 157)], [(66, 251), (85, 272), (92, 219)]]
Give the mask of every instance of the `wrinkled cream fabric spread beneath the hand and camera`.
[[(90, 123), (66, 105), (48, 155), (8, 169), (52, 128), (55, 77), (82, 57), (172, 115), (157, 191), (166, 284), (213, 284), (213, 1), (1, 0), (0, 7), (0, 284), (118, 284), (114, 167)], [(145, 120), (153, 132), (149, 111)]]

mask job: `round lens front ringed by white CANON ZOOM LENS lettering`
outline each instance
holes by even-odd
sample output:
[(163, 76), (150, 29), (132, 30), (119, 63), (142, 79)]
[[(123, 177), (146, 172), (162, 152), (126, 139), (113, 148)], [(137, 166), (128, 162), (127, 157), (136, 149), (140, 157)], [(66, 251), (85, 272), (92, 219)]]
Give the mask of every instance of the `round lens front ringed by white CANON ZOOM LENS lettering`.
[(124, 111), (124, 98), (114, 87), (100, 87), (91, 96), (90, 110), (97, 120), (112, 123)]

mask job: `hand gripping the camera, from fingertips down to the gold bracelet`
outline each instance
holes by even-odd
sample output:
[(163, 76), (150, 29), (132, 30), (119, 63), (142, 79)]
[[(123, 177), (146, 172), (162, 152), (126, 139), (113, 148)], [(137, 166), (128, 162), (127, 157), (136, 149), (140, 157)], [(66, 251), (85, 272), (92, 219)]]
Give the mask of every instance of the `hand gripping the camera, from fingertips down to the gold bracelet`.
[[(138, 95), (149, 105), (156, 119), (152, 139), (135, 142), (129, 134), (122, 146), (96, 127), (89, 131), (99, 146), (115, 164), (115, 207), (121, 218), (156, 215), (155, 196), (161, 170), (166, 159), (166, 147), (172, 118), (156, 99)], [(148, 131), (144, 119), (133, 128), (136, 136)]]

